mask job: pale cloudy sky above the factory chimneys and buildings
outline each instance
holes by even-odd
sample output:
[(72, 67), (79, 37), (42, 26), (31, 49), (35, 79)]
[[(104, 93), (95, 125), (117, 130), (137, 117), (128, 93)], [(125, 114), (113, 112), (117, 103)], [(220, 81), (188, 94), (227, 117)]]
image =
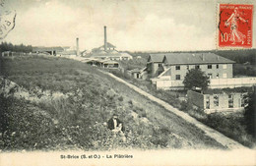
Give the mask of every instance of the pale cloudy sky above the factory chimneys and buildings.
[[(217, 0), (4, 2), (4, 10), (17, 12), (16, 27), (4, 39), (15, 44), (74, 46), (76, 37), (79, 37), (81, 50), (90, 50), (103, 44), (103, 26), (106, 26), (107, 40), (118, 50), (174, 51), (216, 48)], [(218, 2), (226, 3), (228, 0)], [(240, 0), (239, 3), (254, 4), (254, 8), (256, 6), (256, 1), (253, 0)], [(254, 48), (255, 34), (254, 24)]]

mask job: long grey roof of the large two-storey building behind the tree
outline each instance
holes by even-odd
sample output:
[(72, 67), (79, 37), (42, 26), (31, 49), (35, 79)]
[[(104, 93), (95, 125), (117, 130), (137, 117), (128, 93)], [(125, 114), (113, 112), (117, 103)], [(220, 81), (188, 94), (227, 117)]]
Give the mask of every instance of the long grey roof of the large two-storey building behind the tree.
[(235, 63), (229, 59), (219, 56), (214, 53), (165, 53), (151, 54), (152, 62), (164, 62), (173, 65), (188, 65), (188, 64), (231, 64)]

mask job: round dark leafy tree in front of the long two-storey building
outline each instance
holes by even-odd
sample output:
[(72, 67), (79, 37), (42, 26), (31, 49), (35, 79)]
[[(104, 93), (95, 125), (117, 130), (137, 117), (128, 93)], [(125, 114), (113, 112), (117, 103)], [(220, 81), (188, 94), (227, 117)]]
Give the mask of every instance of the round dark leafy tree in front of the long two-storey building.
[(202, 90), (205, 90), (208, 88), (209, 83), (209, 77), (206, 76), (205, 73), (201, 71), (201, 69), (189, 70), (183, 81), (186, 89), (193, 89), (199, 87)]

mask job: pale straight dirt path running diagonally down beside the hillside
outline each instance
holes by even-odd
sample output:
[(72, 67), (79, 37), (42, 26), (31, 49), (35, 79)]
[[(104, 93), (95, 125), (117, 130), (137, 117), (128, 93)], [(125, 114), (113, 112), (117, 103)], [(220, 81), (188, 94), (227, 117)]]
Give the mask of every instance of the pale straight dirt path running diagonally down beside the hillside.
[[(100, 70), (98, 70), (100, 71)], [(110, 73), (106, 73), (103, 71), (100, 71), (108, 76), (110, 76), (111, 78), (115, 79), (116, 81), (120, 82), (120, 83), (124, 83), (127, 86), (129, 86), (130, 88), (132, 88), (133, 90), (135, 90), (136, 92), (144, 95), (145, 97), (149, 98), (150, 100), (157, 102), (158, 104), (160, 104), (160, 106), (162, 106), (163, 108), (165, 108), (166, 110), (168, 110), (169, 112), (175, 114), (176, 116), (182, 118), (183, 120), (185, 120), (186, 122), (193, 124), (194, 126), (196, 126), (198, 129), (202, 130), (207, 137), (209, 138), (213, 138), (216, 141), (220, 142), (222, 145), (224, 145), (225, 147), (229, 148), (229, 149), (237, 149), (237, 148), (247, 148), (243, 145), (241, 145), (240, 143), (234, 141), (231, 138), (226, 138), (223, 134), (209, 128), (208, 126), (202, 124), (201, 122), (197, 121), (196, 119), (190, 117), (188, 114), (179, 111), (176, 108), (173, 108), (171, 105), (169, 105), (168, 103), (160, 100), (159, 98), (145, 92), (144, 90), (140, 89), (139, 87), (131, 84), (131, 83), (127, 83), (125, 81), (123, 81), (122, 79), (110, 74)]]

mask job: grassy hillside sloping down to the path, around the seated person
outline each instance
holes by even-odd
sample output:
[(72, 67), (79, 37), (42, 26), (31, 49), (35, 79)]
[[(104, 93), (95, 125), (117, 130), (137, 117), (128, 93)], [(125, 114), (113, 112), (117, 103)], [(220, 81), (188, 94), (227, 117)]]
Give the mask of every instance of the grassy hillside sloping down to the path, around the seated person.
[[(32, 56), (2, 58), (0, 67), (2, 150), (224, 148), (86, 64)], [(105, 126), (113, 113), (126, 141)]]

